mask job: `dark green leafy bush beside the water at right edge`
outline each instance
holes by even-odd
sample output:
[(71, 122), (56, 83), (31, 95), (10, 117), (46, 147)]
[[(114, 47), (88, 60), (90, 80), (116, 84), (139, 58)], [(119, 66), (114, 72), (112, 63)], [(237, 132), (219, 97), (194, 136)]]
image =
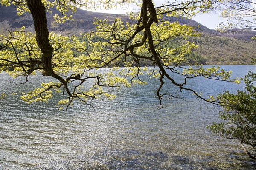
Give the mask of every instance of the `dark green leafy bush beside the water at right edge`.
[(256, 147), (256, 73), (251, 71), (244, 77), (246, 91), (237, 91), (231, 94), (225, 91), (218, 95), (224, 111), (220, 112), (223, 122), (213, 123), (208, 128), (228, 139), (239, 139), (240, 144), (252, 159), (252, 156), (244, 147), (248, 144)]

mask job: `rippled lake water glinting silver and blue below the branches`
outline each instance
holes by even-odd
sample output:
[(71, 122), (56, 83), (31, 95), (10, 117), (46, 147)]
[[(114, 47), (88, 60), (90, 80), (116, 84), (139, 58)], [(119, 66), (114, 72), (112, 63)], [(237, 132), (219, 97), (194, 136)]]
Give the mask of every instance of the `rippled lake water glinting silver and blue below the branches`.
[[(255, 65), (221, 66), (233, 70), (233, 77), (256, 71)], [(101, 71), (107, 71), (102, 69)], [(179, 77), (177, 77), (179, 78)], [(19, 78), (21, 79), (21, 78)], [(238, 140), (223, 139), (207, 130), (219, 122), (220, 107), (198, 101), (183, 91), (180, 99), (164, 101), (158, 110), (157, 79), (144, 86), (116, 91), (113, 101), (74, 105), (67, 111), (49, 103), (26, 104), (20, 91), (37, 87), (50, 77), (30, 77), (32, 84), (0, 74), (0, 170), (253, 170), (256, 162), (247, 158)], [(181, 79), (181, 77), (180, 77)], [(207, 79), (190, 83), (205, 95), (223, 90), (244, 90), (235, 85)], [(177, 89), (166, 82), (164, 91)], [(255, 154), (254, 152), (253, 154)]]

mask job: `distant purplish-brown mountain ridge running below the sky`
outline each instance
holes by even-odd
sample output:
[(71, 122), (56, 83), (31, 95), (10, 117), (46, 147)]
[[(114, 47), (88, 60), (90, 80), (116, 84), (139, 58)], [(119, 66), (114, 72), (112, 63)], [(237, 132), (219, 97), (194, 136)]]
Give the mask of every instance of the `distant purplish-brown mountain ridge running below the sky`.
[[(52, 13), (47, 13), (48, 28), (49, 31), (53, 31), (57, 34), (64, 35), (79, 35), (80, 33), (88, 32), (95, 28), (93, 24), (94, 18), (99, 19), (108, 19), (109, 22), (113, 22), (115, 18), (121, 18), (123, 21), (130, 21), (128, 15), (124, 14), (106, 14), (106, 13), (97, 13), (91, 11), (85, 11), (78, 9), (76, 13), (73, 13), (73, 21), (68, 20), (63, 24), (58, 24), (53, 19), (55, 14), (58, 14), (57, 10), (52, 10)], [(181, 25), (186, 24), (189, 26), (195, 26), (198, 32), (209, 34), (209, 35), (218, 35), (224, 37), (233, 37), (241, 40), (250, 40), (251, 37), (255, 35), (255, 32), (242, 31), (233, 33), (224, 33), (221, 34), (216, 30), (212, 30), (203, 26), (202, 24), (196, 22), (195, 20), (185, 19), (181, 17), (167, 17), (164, 16), (164, 20), (169, 20), (170, 22), (178, 21)], [(0, 6), (0, 33), (7, 34), (7, 30), (16, 30), (22, 26), (25, 26), (28, 31), (34, 31), (33, 20), (30, 13), (17, 16), (17, 10), (15, 6)], [(199, 26), (199, 27), (198, 27)]]

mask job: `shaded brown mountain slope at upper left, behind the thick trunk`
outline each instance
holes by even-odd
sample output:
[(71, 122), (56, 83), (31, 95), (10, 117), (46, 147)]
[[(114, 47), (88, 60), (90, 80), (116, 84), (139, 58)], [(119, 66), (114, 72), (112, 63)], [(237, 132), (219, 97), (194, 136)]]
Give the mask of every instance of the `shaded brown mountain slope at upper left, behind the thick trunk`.
[[(122, 20), (129, 20), (127, 15), (119, 14), (103, 14), (78, 9), (73, 15), (74, 20), (66, 21), (64, 24), (57, 23), (53, 16), (58, 14), (57, 10), (53, 10), (52, 13), (47, 13), (47, 24), (49, 31), (54, 31), (57, 34), (64, 35), (80, 35), (80, 33), (88, 32), (94, 29), (94, 18), (108, 19), (110, 22), (114, 21), (116, 17), (122, 18)], [(6, 34), (10, 30), (16, 30), (21, 26), (25, 26), (26, 30), (34, 31), (32, 15), (30, 13), (17, 16), (15, 6), (0, 6), (0, 31), (1, 34)]]

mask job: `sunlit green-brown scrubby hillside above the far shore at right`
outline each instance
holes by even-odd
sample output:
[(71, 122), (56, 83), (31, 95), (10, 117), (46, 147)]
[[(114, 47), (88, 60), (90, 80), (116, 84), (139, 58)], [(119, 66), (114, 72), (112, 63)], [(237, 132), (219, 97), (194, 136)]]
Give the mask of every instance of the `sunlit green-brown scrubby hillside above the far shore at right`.
[(250, 64), (256, 57), (256, 42), (235, 38), (202, 35), (189, 38), (198, 45), (195, 54), (205, 60), (207, 65)]

